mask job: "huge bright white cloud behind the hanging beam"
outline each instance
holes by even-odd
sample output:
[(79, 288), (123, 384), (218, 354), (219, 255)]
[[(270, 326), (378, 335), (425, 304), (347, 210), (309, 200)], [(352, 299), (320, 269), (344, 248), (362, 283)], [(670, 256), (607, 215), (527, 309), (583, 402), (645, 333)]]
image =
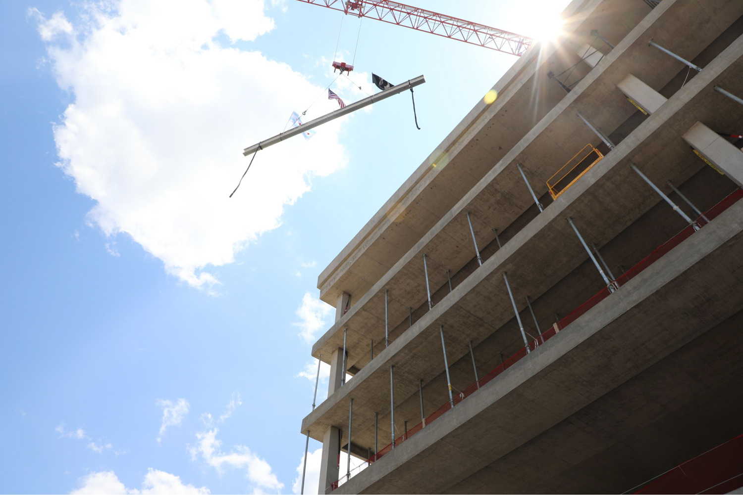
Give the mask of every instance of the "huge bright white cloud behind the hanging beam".
[[(309, 141), (261, 151), (230, 199), (248, 163), (241, 150), (281, 131), (322, 87), (262, 53), (214, 41), (272, 29), (262, 0), (110, 5), (82, 2), (72, 23), (30, 11), (58, 85), (74, 96), (53, 128), (59, 166), (97, 202), (88, 220), (107, 237), (129, 235), (192, 286), (218, 284), (214, 267), (276, 229), (312, 177), (345, 165), (344, 119)], [(61, 33), (74, 36), (55, 41)], [(305, 120), (334, 108), (319, 99)]]

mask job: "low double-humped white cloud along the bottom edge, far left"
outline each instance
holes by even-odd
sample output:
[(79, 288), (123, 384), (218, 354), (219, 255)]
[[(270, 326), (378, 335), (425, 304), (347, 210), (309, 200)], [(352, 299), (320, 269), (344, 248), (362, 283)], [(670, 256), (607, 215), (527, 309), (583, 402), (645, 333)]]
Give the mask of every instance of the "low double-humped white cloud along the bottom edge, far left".
[(80, 479), (80, 488), (71, 494), (209, 494), (207, 487), (184, 485), (179, 476), (149, 468), (142, 489), (130, 489), (120, 482), (114, 471), (97, 471)]

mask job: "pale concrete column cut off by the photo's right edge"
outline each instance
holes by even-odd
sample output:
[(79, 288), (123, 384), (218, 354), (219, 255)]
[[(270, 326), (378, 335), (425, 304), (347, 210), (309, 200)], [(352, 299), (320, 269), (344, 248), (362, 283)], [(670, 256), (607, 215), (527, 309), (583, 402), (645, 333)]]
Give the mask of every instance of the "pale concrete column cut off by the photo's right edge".
[(727, 175), (738, 186), (743, 186), (743, 151), (724, 137), (697, 122), (684, 134), (684, 140), (718, 171)]

